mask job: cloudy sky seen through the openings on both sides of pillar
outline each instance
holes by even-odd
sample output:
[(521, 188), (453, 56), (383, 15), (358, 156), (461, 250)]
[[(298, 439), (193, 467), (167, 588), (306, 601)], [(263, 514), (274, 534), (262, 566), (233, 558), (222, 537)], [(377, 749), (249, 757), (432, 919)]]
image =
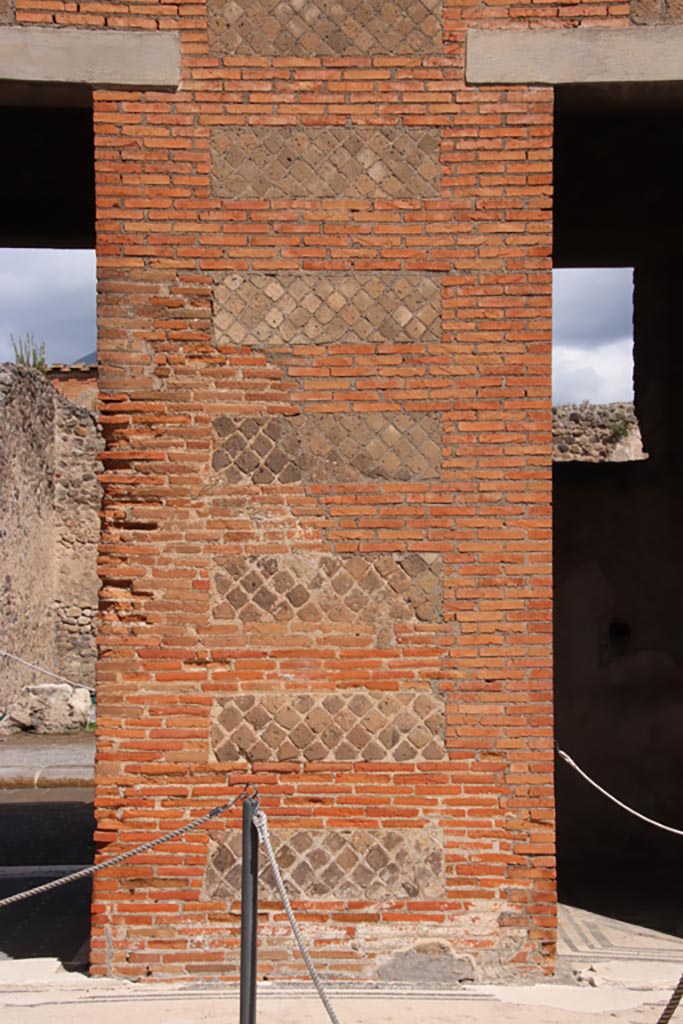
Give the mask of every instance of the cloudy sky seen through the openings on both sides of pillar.
[[(556, 270), (553, 292), (554, 402), (631, 399), (632, 271)], [(94, 351), (94, 253), (0, 249), (0, 362), (27, 332), (48, 362)]]

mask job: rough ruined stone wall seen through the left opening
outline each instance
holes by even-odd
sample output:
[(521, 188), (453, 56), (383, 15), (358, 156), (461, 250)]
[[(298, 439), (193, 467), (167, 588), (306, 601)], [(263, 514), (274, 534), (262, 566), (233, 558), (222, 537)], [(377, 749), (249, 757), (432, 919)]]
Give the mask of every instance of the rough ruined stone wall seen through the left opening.
[[(37, 371), (0, 367), (0, 646), (94, 684), (101, 440)], [(0, 659), (3, 707), (45, 678)]]

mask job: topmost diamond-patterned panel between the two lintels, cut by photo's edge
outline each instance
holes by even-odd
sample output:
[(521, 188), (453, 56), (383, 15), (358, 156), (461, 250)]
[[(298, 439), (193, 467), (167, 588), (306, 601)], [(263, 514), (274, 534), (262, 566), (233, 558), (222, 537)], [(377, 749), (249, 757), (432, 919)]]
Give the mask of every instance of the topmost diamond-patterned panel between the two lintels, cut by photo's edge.
[(213, 53), (438, 53), (441, 0), (209, 0)]

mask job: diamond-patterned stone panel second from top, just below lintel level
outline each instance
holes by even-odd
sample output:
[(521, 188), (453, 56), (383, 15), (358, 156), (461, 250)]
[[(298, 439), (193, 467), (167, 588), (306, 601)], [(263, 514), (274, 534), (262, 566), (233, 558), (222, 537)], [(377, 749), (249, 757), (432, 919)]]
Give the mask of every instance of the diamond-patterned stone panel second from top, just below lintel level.
[(437, 128), (215, 128), (215, 196), (423, 199), (440, 189)]

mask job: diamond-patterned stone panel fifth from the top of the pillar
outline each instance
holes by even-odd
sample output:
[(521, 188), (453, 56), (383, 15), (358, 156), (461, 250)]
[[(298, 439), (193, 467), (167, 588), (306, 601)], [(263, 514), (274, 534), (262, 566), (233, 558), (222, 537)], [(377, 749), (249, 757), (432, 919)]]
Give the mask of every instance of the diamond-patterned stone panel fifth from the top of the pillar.
[(213, 577), (215, 618), (378, 628), (441, 618), (441, 558), (432, 553), (233, 555)]

